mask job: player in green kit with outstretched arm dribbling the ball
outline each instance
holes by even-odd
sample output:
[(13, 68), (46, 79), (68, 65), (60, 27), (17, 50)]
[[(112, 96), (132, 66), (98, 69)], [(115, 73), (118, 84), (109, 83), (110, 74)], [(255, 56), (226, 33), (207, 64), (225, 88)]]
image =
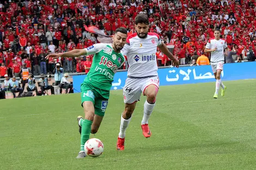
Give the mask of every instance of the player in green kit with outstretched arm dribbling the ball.
[(81, 85), (81, 100), (85, 116), (84, 118), (77, 117), (81, 134), (81, 148), (76, 158), (86, 157), (84, 143), (89, 139), (90, 133), (95, 134), (100, 127), (107, 108), (114, 74), (125, 62), (124, 55), (120, 53), (120, 50), (124, 47), (126, 38), (127, 30), (120, 27), (115, 30), (112, 44), (96, 43), (88, 48), (46, 56), (48, 59), (50, 56), (59, 58), (59, 56), (75, 57), (94, 54), (90, 71)]

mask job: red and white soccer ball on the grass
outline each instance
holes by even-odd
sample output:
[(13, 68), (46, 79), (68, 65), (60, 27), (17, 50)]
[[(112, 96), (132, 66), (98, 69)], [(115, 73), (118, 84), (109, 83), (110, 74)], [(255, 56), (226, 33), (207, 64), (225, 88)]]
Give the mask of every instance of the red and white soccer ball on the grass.
[(100, 156), (103, 152), (103, 143), (97, 138), (90, 138), (84, 144), (84, 152), (86, 152), (87, 156)]

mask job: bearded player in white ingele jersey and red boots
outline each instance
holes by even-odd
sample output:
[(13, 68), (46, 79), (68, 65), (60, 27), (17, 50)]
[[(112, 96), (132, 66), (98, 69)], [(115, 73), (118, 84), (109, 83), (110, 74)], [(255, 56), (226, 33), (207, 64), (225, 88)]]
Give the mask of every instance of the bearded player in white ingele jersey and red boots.
[(129, 63), (127, 79), (123, 89), (125, 109), (121, 115), (120, 133), (118, 135), (117, 149), (124, 150), (125, 131), (128, 127), (136, 103), (141, 98), (141, 93), (147, 96), (144, 103), (144, 115), (141, 122), (143, 135), (151, 136), (148, 120), (156, 102), (159, 90), (159, 77), (157, 74), (156, 49), (166, 54), (173, 60), (176, 67), (179, 60), (169, 52), (167, 46), (156, 33), (148, 33), (149, 20), (145, 14), (138, 14), (135, 18), (136, 32), (127, 37), (126, 45), (121, 53), (126, 55)]

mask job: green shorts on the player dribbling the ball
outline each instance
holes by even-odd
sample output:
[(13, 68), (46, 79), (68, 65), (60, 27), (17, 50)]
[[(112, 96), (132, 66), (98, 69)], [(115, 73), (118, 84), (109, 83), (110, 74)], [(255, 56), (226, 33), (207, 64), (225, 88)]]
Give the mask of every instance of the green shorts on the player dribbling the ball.
[(98, 89), (89, 83), (81, 84), (81, 102), (91, 101), (94, 104), (95, 114), (104, 116), (107, 109), (109, 91)]

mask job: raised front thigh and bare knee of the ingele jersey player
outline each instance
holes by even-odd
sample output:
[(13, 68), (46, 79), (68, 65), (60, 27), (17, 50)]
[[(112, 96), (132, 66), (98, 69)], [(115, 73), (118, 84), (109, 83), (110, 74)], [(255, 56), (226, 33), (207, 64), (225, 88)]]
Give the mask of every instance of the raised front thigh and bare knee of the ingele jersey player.
[(142, 81), (142, 89), (144, 96), (156, 96), (159, 90), (159, 77), (151, 77)]

